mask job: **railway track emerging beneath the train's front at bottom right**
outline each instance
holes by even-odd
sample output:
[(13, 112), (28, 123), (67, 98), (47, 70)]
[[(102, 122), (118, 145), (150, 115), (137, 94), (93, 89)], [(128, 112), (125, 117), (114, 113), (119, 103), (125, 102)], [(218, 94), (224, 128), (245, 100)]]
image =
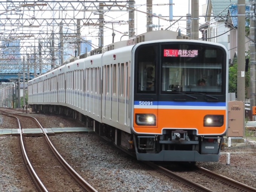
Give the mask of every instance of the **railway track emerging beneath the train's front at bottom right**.
[[(181, 183), (184, 183), (187, 187), (194, 188), (197, 191), (200, 192), (214, 192), (218, 190), (212, 190), (207, 187), (204, 187), (203, 185), (194, 182), (190, 179), (188, 179), (186, 176), (182, 176), (181, 174), (177, 174), (173, 171), (170, 171), (169, 169), (166, 169), (162, 166), (156, 165), (152, 162), (145, 162), (146, 165), (154, 168), (155, 170), (161, 172), (162, 174), (166, 175), (167, 177), (171, 177), (177, 181), (180, 181)], [(195, 170), (197, 173), (193, 172), (194, 177), (197, 177), (196, 174), (202, 174), (204, 177), (204, 182), (207, 181), (205, 177), (208, 177), (212, 180), (216, 180), (218, 183), (226, 186), (226, 188), (229, 188), (226, 191), (246, 191), (246, 192), (256, 192), (256, 189), (253, 187), (250, 187), (246, 184), (240, 183), (238, 181), (235, 181), (233, 179), (230, 179), (228, 177), (225, 177), (223, 175), (216, 174), (215, 172), (209, 171), (207, 169), (204, 169), (199, 166), (195, 166)], [(187, 173), (186, 173), (187, 174)], [(209, 182), (210, 183), (210, 182)], [(219, 189), (220, 190), (220, 189)]]

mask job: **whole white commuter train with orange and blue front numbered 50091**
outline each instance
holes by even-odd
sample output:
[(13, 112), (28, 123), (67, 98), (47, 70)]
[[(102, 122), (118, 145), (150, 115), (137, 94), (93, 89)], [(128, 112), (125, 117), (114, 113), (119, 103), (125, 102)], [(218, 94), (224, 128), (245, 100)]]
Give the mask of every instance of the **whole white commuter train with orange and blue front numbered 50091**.
[(159, 30), (98, 50), (30, 80), (32, 110), (80, 120), (138, 160), (218, 161), (225, 46)]

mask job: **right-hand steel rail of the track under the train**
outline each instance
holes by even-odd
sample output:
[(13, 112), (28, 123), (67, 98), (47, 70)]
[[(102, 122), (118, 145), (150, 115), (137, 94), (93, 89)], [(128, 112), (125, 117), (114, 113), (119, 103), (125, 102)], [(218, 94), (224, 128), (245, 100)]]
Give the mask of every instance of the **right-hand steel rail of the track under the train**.
[(242, 189), (244, 191), (247, 191), (247, 192), (255, 192), (256, 191), (256, 189), (253, 187), (250, 187), (246, 184), (240, 183), (238, 181), (235, 181), (235, 180), (225, 177), (223, 175), (216, 174), (215, 172), (209, 171), (208, 169), (205, 169), (205, 168), (202, 168), (199, 166), (196, 166), (196, 168), (198, 171), (202, 172), (203, 174), (209, 175), (210, 177), (213, 177), (215, 179), (223, 181), (227, 184), (231, 184), (231, 185), (238, 187), (239, 189)]

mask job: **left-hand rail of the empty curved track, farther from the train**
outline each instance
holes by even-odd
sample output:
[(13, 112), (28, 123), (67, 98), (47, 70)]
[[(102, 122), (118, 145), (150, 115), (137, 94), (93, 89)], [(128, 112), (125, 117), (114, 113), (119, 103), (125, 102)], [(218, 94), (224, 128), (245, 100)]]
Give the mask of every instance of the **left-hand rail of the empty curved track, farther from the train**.
[[(1, 110), (2, 111), (2, 110)], [(41, 182), (40, 178), (37, 176), (36, 172), (34, 171), (30, 161), (29, 161), (29, 158), (27, 157), (27, 153), (26, 153), (26, 150), (25, 150), (25, 147), (24, 147), (24, 142), (23, 142), (23, 136), (22, 136), (22, 130), (21, 130), (21, 126), (20, 126), (20, 121), (18, 119), (18, 117), (15, 117), (15, 116), (11, 116), (11, 115), (8, 115), (8, 114), (3, 114), (3, 115), (6, 115), (8, 117), (12, 117), (12, 118), (15, 118), (17, 120), (17, 123), (18, 123), (18, 128), (20, 130), (20, 145), (21, 145), (21, 150), (22, 150), (22, 153), (23, 153), (23, 156), (24, 156), (24, 160), (26, 162), (26, 165), (27, 165), (27, 168), (32, 176), (32, 178), (34, 179), (35, 183), (37, 184), (37, 187), (39, 188), (39, 190), (41, 192), (48, 192), (48, 190), (46, 189), (46, 187), (44, 186), (44, 184)]]

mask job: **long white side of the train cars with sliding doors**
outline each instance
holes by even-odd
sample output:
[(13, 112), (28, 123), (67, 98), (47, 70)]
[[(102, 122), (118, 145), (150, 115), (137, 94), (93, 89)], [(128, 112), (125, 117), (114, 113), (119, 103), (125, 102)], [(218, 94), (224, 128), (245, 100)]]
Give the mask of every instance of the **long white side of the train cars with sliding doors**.
[[(129, 89), (133, 46), (79, 59), (34, 78), (28, 83), (28, 103), (66, 106), (131, 133)], [(113, 70), (117, 72), (115, 82), (113, 75), (106, 75), (113, 74)]]

